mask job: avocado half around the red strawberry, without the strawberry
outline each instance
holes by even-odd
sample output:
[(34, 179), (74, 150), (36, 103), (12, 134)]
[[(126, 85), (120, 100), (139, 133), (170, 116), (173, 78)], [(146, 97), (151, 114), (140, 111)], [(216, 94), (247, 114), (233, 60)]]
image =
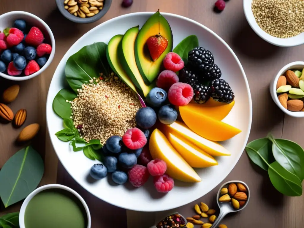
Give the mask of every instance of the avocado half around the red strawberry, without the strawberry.
[[(151, 36), (161, 35), (168, 40), (168, 46), (163, 54), (153, 61), (147, 50), (146, 42)], [(168, 21), (161, 16), (159, 10), (143, 25), (135, 41), (135, 59), (144, 82), (150, 85), (160, 73), (161, 65), (166, 54), (172, 51), (173, 35)]]

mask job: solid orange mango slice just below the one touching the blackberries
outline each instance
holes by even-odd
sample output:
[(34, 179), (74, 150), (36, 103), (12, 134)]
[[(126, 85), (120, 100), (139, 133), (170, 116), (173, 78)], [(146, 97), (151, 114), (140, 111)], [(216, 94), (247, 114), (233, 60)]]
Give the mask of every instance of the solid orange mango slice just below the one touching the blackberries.
[(240, 129), (227, 123), (212, 119), (202, 113), (192, 112), (187, 105), (180, 106), (179, 113), (192, 131), (212, 141), (225, 141), (241, 132)]

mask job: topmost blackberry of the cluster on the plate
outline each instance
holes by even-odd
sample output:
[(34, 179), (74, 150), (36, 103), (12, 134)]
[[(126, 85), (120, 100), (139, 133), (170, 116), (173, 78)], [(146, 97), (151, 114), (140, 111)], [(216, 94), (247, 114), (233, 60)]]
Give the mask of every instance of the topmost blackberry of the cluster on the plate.
[(188, 62), (197, 70), (206, 71), (214, 64), (214, 58), (210, 51), (203, 47), (196, 47), (189, 51)]

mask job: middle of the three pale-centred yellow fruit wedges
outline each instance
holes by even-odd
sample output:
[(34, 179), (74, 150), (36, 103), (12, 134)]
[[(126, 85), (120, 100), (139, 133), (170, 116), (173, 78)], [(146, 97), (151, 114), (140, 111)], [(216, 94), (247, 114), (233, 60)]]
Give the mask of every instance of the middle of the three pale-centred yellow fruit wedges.
[(174, 134), (169, 133), (167, 138), (175, 150), (185, 159), (193, 168), (205, 168), (217, 165), (217, 161), (205, 151), (196, 147), (188, 140), (179, 139)]

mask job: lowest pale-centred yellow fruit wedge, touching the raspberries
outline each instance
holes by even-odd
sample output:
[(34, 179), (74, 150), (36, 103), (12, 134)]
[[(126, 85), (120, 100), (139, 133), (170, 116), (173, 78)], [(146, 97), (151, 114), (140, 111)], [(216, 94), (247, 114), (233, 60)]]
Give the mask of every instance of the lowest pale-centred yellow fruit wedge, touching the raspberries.
[(149, 150), (153, 159), (159, 158), (166, 162), (166, 173), (172, 178), (185, 182), (202, 181), (199, 175), (178, 154), (166, 136), (158, 129), (155, 129), (150, 136)]

